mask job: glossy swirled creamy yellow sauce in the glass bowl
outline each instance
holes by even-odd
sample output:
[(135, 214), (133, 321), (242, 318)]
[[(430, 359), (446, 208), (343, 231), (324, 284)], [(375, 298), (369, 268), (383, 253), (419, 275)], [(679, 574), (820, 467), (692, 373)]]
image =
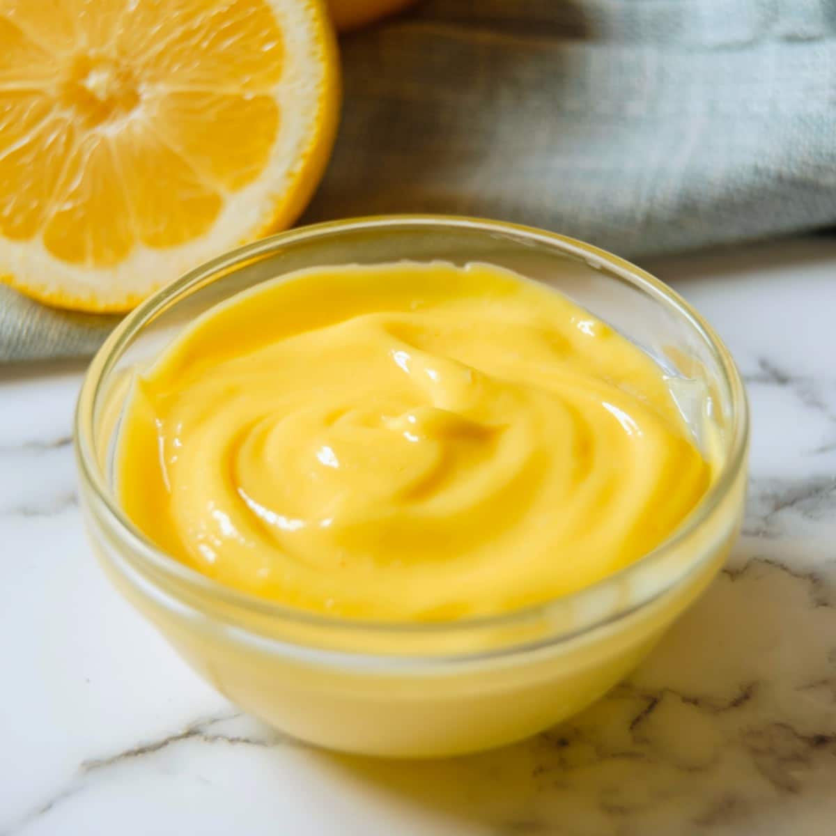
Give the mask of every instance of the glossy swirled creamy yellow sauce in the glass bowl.
[(487, 265), (320, 268), (213, 308), (134, 382), (117, 478), (222, 584), (359, 619), (497, 614), (658, 545), (706, 492), (650, 357)]

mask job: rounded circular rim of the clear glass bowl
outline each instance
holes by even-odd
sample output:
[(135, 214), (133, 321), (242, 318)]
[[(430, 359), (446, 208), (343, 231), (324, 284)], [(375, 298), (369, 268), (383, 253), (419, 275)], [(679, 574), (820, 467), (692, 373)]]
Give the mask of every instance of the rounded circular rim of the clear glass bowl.
[[(459, 619), (456, 621), (438, 622), (410, 622), (394, 620), (373, 620), (373, 619), (346, 619), (337, 616), (317, 614), (312, 611), (297, 609), (286, 604), (279, 604), (268, 599), (260, 599), (252, 594), (240, 592), (237, 589), (220, 584), (214, 579), (198, 572), (177, 558), (166, 553), (157, 547), (145, 533), (136, 528), (134, 523), (125, 515), (116, 501), (115, 493), (110, 489), (101, 473), (95, 444), (95, 421), (96, 403), (106, 375), (112, 370), (125, 348), (130, 345), (131, 339), (146, 324), (153, 321), (157, 314), (176, 305), (181, 297), (187, 296), (192, 288), (201, 287), (206, 283), (222, 279), (224, 276), (234, 272), (237, 266), (246, 264), (251, 260), (260, 257), (268, 257), (272, 252), (283, 247), (293, 246), (301, 242), (311, 242), (317, 237), (333, 237), (334, 234), (386, 231), (397, 228), (420, 228), (434, 227), (451, 231), (461, 229), (466, 232), (484, 232), (487, 234), (501, 234), (504, 237), (515, 237), (517, 239), (537, 242), (558, 250), (564, 255), (581, 258), (594, 267), (606, 267), (611, 273), (632, 285), (640, 292), (650, 295), (658, 302), (663, 303), (665, 308), (673, 311), (681, 319), (684, 319), (691, 329), (705, 342), (711, 354), (721, 370), (721, 382), (725, 385), (731, 402), (732, 433), (731, 440), (726, 445), (727, 455), (721, 466), (715, 482), (711, 485), (706, 494), (701, 497), (688, 516), (678, 525), (670, 535), (650, 552), (645, 553), (628, 566), (619, 571), (599, 579), (578, 591), (548, 599), (538, 604), (515, 609), (507, 613), (482, 615)], [(590, 259), (592, 261), (590, 262)], [(212, 276), (215, 279), (212, 279)], [(296, 623), (303, 626), (314, 627), (326, 631), (345, 633), (347, 630), (362, 631), (366, 634), (377, 635), (438, 635), (450, 636), (456, 633), (465, 633), (472, 630), (496, 630), (523, 624), (530, 620), (542, 621), (550, 619), (556, 609), (572, 607), (580, 601), (591, 598), (594, 595), (604, 594), (604, 590), (612, 589), (617, 584), (630, 578), (640, 571), (647, 571), (650, 565), (660, 563), (667, 554), (673, 551), (691, 533), (701, 527), (711, 513), (714, 512), (726, 496), (732, 491), (737, 482), (737, 477), (745, 466), (747, 458), (747, 446), (749, 436), (749, 408), (746, 390), (737, 365), (726, 345), (717, 336), (714, 329), (696, 313), (696, 310), (681, 297), (679, 293), (662, 283), (660, 279), (647, 273), (642, 268), (630, 263), (623, 258), (607, 252), (599, 247), (594, 247), (578, 239), (564, 236), (556, 232), (548, 232), (536, 227), (527, 227), (515, 223), (494, 221), (487, 218), (466, 217), (456, 215), (435, 215), (435, 214), (397, 214), (370, 217), (345, 218), (339, 221), (323, 222), (304, 227), (296, 227), (287, 232), (265, 237), (237, 247), (213, 258), (211, 261), (201, 264), (192, 269), (173, 283), (153, 293), (150, 298), (141, 303), (135, 310), (122, 319), (110, 336), (105, 340), (99, 351), (91, 360), (84, 381), (79, 391), (79, 398), (74, 415), (74, 446), (76, 461), (79, 470), (79, 479), (83, 489), (92, 492), (97, 506), (104, 512), (110, 525), (119, 534), (123, 544), (130, 548), (131, 556), (139, 558), (146, 567), (155, 570), (156, 574), (186, 584), (188, 588), (207, 595), (217, 603), (232, 606), (248, 614), (281, 619), (283, 622)], [(568, 640), (573, 636), (589, 632), (604, 624), (623, 618), (630, 613), (641, 609), (655, 599), (660, 598), (670, 589), (674, 589), (691, 571), (700, 563), (696, 558), (687, 563), (674, 579), (660, 589), (645, 595), (638, 603), (630, 604), (614, 614), (607, 614), (603, 618), (591, 619), (589, 624), (550, 635), (548, 640), (538, 643), (552, 644), (554, 642)], [(262, 639), (267, 636), (262, 635)], [(283, 645), (293, 644), (282, 640)], [(308, 645), (297, 645), (308, 647)], [(311, 647), (311, 650), (314, 648)], [(520, 650), (519, 646), (503, 647), (497, 653), (480, 652), (476, 655), (480, 658), (487, 655), (502, 655)], [(330, 652), (330, 651), (329, 651)], [(352, 651), (336, 650), (341, 655), (352, 654)], [(371, 651), (359, 655), (370, 655), (376, 658), (386, 656), (385, 653)], [(460, 658), (458, 654), (444, 654), (436, 658), (448, 659), (451, 655)], [(399, 658), (404, 655), (395, 654)], [(415, 658), (415, 657), (412, 657)], [(424, 657), (426, 658), (426, 657)]]

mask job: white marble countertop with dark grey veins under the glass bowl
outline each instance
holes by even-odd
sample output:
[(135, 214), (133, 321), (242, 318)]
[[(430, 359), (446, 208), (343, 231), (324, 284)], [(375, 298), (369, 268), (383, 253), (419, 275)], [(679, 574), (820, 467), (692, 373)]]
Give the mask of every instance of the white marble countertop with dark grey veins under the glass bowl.
[(746, 377), (742, 538), (630, 682), (455, 761), (317, 752), (192, 675), (84, 542), (70, 440), (83, 364), (0, 369), (0, 833), (832, 834), (836, 239), (647, 266)]

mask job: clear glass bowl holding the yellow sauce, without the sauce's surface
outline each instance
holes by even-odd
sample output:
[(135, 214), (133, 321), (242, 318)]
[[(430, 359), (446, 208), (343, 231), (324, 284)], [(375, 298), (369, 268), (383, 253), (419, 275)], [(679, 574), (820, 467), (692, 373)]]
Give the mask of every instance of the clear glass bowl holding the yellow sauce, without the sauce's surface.
[[(227, 589), (161, 552), (120, 508), (112, 446), (127, 384), (207, 308), (299, 268), (442, 259), (558, 288), (651, 354), (722, 464), (675, 533), (577, 594), (497, 617), (364, 623)], [(432, 757), (496, 747), (587, 706), (630, 673), (721, 567), (742, 516), (747, 401), (711, 328), (634, 265), (570, 238), (456, 217), (378, 217), (270, 237), (197, 268), (130, 314), (96, 355), (75, 443), (84, 516), (106, 573), (207, 681), (305, 741)]]

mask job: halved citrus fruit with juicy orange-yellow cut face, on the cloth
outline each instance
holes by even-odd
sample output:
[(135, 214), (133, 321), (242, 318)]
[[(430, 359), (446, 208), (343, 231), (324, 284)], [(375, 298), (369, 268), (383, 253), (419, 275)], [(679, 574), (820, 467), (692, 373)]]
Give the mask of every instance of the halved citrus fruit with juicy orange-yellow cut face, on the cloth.
[(317, 0), (0, 0), (0, 279), (120, 311), (288, 227), (337, 67)]

